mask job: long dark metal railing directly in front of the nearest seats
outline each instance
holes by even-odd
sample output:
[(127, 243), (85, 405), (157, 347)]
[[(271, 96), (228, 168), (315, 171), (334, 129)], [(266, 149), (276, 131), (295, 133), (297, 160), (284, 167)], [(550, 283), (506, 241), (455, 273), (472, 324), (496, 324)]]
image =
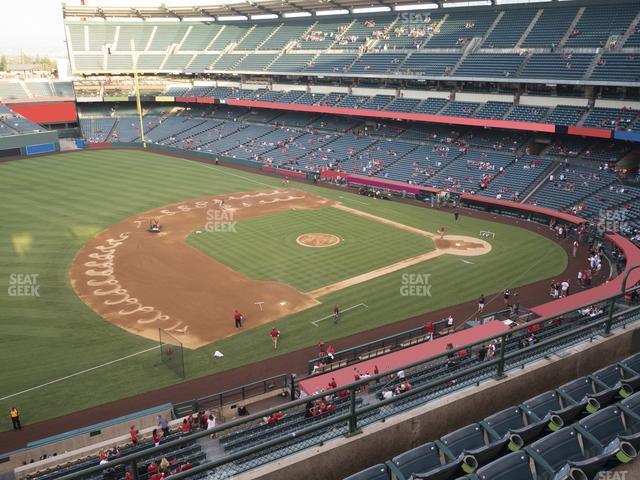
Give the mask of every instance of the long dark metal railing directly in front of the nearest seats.
[[(640, 320), (639, 293), (640, 286), (635, 286), (624, 293), (601, 299), (595, 304), (585, 305), (580, 309), (563, 312), (553, 317), (540, 318), (480, 342), (464, 345), (446, 353), (374, 375), (337, 389), (326, 390), (292, 401), (284, 406), (234, 420), (222, 424), (214, 430), (193, 433), (186, 438), (167, 442), (159, 447), (122, 457), (105, 465), (98, 465), (81, 472), (59, 477), (59, 480), (85, 478), (117, 465), (130, 465), (133, 472), (136, 472), (138, 462), (148, 458), (156, 450), (160, 452), (166, 451), (168, 448), (180, 447), (187, 442), (204, 438), (212, 433), (217, 438), (221, 438), (232, 432), (248, 431), (252, 427), (263, 424), (264, 418), (276, 412), (282, 412), (286, 418), (288, 415), (300, 414), (300, 412), (304, 411), (305, 404), (309, 401), (319, 400), (332, 394), (339, 395), (341, 391), (347, 392), (344, 396), (344, 402), (346, 402), (343, 404), (344, 408), (334, 414), (322, 414), (319, 417), (309, 419), (308, 422), (296, 423), (293, 426), (294, 428), (278, 428), (277, 425), (268, 426), (266, 428), (272, 430), (272, 435), (263, 437), (256, 444), (231, 454), (225, 454), (215, 460), (206, 461), (187, 472), (172, 475), (172, 478), (179, 480), (183, 477), (208, 472), (211, 475), (210, 478), (228, 478), (271, 462), (276, 458), (323, 443), (331, 438), (357, 434), (360, 432), (361, 426), (442, 397), (460, 388), (479, 384), (483, 380), (500, 378), (510, 370), (522, 368), (528, 363), (548, 357), (550, 354), (571, 345), (584, 341), (593, 341), (596, 337), (606, 336), (608, 332), (625, 329), (627, 325)], [(543, 337), (543, 335), (540, 335), (540, 338), (543, 339), (529, 346), (522, 347), (517, 342), (518, 339), (530, 336), (532, 332), (543, 332), (545, 327), (553, 327), (552, 330), (556, 330), (548, 336)], [(391, 398), (375, 400), (370, 403), (362, 402), (362, 394), (369, 385), (374, 385), (376, 382), (386, 382), (400, 370), (403, 370), (405, 375), (409, 376), (438, 362), (446, 364), (451, 356), (458, 358), (457, 355), (460, 351), (465, 352), (465, 358), (477, 359), (479, 358), (478, 353), (480, 350), (491, 342), (495, 342), (497, 346), (496, 354), (491, 359), (470, 362), (469, 367), (460, 364), (457, 367), (448, 368), (445, 374), (438, 375), (425, 383), (415, 386), (408, 392)]]

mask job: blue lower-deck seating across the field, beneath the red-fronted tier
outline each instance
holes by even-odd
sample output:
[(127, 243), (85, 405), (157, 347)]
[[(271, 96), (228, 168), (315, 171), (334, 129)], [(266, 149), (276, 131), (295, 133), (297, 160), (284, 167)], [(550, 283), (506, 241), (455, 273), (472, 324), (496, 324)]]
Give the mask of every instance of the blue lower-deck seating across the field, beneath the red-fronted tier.
[[(211, 95), (212, 90), (203, 88), (202, 93)], [(303, 91), (282, 94), (266, 88), (251, 90), (247, 95), (277, 101), (285, 95), (294, 102), (335, 102), (351, 107), (375, 104), (380, 108), (405, 100)], [(447, 101), (419, 102), (418, 106), (436, 109)], [(466, 106), (464, 102), (449, 103), (452, 109)], [(522, 156), (521, 149), (530, 139), (524, 132), (390, 120), (374, 123), (357, 117), (229, 105), (194, 105), (177, 113), (168, 115), (161, 108), (147, 108), (146, 140), (304, 171), (333, 168), (504, 200), (521, 201), (541, 184), (528, 202), (596, 220), (601, 209), (615, 208), (628, 215), (629, 229), (640, 223), (640, 196), (633, 187), (621, 190), (612, 173), (613, 163), (628, 153), (628, 147), (609, 140), (585, 143), (578, 137), (558, 137), (543, 150), (543, 155)], [(81, 126), (85, 138), (92, 143), (135, 142), (140, 134), (139, 120), (134, 115), (127, 107), (117, 112), (88, 108), (86, 114), (81, 111)], [(552, 157), (576, 159), (576, 166), (559, 168)], [(556, 171), (550, 180), (553, 169)]]

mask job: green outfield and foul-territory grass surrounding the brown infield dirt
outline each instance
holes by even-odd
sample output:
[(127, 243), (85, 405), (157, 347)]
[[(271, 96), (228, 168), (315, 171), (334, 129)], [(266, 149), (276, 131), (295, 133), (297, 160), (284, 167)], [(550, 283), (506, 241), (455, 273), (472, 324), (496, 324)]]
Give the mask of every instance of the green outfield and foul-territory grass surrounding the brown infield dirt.
[[(71, 288), (71, 261), (95, 233), (139, 212), (189, 198), (281, 187), (275, 178), (124, 150), (9, 162), (0, 165), (0, 176), (0, 397), (155, 345), (101, 319)], [(149, 189), (149, 185), (154, 188)], [(490, 295), (506, 286), (525, 285), (555, 276), (566, 268), (566, 254), (559, 246), (524, 229), (467, 217), (454, 223), (448, 213), (311, 185), (296, 187), (428, 231), (444, 224), (448, 233), (477, 236), (480, 230), (491, 230), (496, 237), (490, 240), (493, 250), (471, 259), (472, 264), (445, 255), (335, 292), (322, 299), (324, 305), (279, 320), (276, 325), (282, 337), (278, 354), (312, 345), (319, 339), (330, 341), (477, 298), (480, 293)], [(395, 241), (392, 243), (390, 250), (401, 248)], [(406, 272), (431, 274), (432, 296), (402, 297), (401, 275)], [(14, 279), (11, 274), (26, 273), (38, 275), (39, 296), (10, 296), (10, 282)], [(522, 300), (526, 303), (526, 296)], [(338, 325), (327, 322), (329, 325), (313, 327), (310, 322), (327, 315), (327, 304), (333, 303), (340, 303), (343, 308), (366, 303), (369, 308), (349, 312)], [(187, 351), (188, 376), (196, 378), (269, 358), (273, 355), (269, 328), (248, 330)], [(225, 357), (214, 362), (210, 355), (214, 349), (223, 351)], [(23, 420), (31, 423), (177, 380), (160, 364), (158, 352), (152, 351), (0, 400), (0, 412), (16, 405)], [(0, 428), (9, 429), (8, 415), (2, 418)]]

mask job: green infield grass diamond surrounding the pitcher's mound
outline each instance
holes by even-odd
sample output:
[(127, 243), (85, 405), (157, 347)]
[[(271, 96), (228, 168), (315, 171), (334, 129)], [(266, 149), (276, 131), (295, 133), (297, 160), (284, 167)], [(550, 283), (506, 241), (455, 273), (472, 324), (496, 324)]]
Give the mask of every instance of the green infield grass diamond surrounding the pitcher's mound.
[[(205, 232), (188, 242), (250, 278), (278, 280), (302, 292), (434, 249), (430, 238), (331, 207), (248, 218), (235, 228), (235, 235)], [(296, 243), (303, 233), (330, 233), (341, 241), (304, 247)]]

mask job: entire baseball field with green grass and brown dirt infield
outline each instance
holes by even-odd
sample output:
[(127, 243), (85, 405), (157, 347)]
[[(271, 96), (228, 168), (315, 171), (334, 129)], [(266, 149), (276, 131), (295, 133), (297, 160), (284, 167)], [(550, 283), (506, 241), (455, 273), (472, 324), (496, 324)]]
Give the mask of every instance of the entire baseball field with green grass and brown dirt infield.
[(567, 266), (518, 226), (147, 152), (7, 162), (0, 176), (0, 411), (26, 423), (180, 381), (158, 328), (184, 343), (193, 379)]

